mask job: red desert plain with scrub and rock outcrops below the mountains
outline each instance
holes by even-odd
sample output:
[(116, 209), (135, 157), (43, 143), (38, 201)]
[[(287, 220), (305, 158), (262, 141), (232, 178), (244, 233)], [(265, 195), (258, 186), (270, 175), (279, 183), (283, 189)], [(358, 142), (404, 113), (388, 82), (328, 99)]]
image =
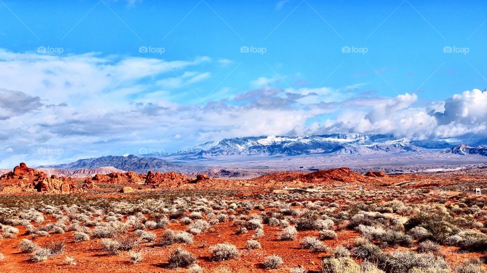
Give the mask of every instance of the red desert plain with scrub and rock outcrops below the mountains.
[(65, 175), (20, 163), (0, 177), (0, 270), (485, 272), (486, 157), (457, 157), (475, 164)]

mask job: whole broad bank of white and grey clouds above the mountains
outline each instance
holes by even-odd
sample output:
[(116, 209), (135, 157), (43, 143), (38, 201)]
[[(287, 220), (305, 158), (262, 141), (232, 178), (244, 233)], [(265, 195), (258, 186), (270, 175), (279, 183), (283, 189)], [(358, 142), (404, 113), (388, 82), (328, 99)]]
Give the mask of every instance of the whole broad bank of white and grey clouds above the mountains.
[(0, 165), (66, 162), (141, 148), (172, 151), (256, 135), (487, 134), (487, 91), (477, 89), (419, 106), (421, 94), (357, 97), (347, 91), (351, 86), (283, 89), (262, 80), (267, 84), (223, 100), (196, 105), (173, 99), (181, 84), (197, 87), (211, 79), (202, 66), (212, 61), (0, 50)]

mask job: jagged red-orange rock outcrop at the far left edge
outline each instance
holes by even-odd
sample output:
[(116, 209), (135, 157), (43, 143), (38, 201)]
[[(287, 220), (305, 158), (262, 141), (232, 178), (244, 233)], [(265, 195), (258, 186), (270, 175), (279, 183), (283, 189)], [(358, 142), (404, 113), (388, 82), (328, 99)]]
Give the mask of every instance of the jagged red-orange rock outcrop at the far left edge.
[(0, 177), (2, 183), (7, 184), (3, 193), (15, 192), (46, 192), (46, 193), (72, 193), (80, 192), (74, 181), (68, 177), (57, 178), (55, 175), (47, 177), (45, 173), (28, 168), (20, 163), (12, 172)]

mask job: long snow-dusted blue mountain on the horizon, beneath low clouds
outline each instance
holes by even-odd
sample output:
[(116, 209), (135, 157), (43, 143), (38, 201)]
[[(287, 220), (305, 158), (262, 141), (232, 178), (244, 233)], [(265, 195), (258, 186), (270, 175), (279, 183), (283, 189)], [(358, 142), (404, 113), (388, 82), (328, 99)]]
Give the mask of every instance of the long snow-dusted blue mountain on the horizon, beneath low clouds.
[[(419, 151), (407, 138), (381, 134), (328, 134), (316, 136), (262, 136), (210, 141), (190, 149), (162, 155), (180, 159), (215, 158), (225, 155), (301, 155), (314, 153), (372, 154)], [(145, 154), (153, 157), (153, 154)]]

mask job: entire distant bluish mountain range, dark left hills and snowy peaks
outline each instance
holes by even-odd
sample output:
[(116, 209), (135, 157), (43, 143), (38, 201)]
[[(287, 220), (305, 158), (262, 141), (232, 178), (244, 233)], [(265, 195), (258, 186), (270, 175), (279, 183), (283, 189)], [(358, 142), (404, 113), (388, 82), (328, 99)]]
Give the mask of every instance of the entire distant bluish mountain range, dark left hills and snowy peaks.
[[(460, 144), (459, 144), (460, 143)], [(123, 171), (147, 173), (148, 171), (197, 173), (204, 170), (201, 165), (192, 161), (207, 161), (206, 167), (212, 166), (212, 160), (231, 158), (232, 156), (252, 157), (293, 157), (297, 155), (323, 154), (398, 154), (434, 151), (438, 153), (479, 154), (487, 155), (487, 146), (477, 147), (461, 144), (462, 140), (410, 140), (395, 138), (393, 135), (381, 134), (328, 134), (314, 136), (262, 136), (231, 138), (220, 141), (209, 141), (192, 148), (166, 154), (142, 154), (82, 159), (73, 163), (40, 166), (76, 171), (113, 167)], [(487, 143), (487, 139), (478, 139), (471, 143)], [(457, 146), (454, 146), (457, 145)], [(452, 147), (454, 146), (454, 147)], [(178, 164), (176, 164), (177, 162)], [(213, 167), (211, 167), (213, 168)]]

